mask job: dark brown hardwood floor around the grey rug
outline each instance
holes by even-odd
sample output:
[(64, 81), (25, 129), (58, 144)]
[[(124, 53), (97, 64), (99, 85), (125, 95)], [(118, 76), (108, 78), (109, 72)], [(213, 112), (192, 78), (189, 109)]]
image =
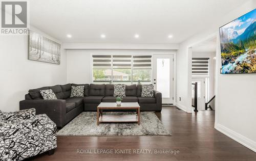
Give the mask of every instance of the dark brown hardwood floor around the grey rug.
[[(58, 137), (53, 155), (30, 160), (256, 160), (256, 153), (214, 128), (214, 111), (188, 114), (175, 106), (156, 113), (172, 136)], [(170, 149), (179, 154), (77, 154), (77, 149)]]

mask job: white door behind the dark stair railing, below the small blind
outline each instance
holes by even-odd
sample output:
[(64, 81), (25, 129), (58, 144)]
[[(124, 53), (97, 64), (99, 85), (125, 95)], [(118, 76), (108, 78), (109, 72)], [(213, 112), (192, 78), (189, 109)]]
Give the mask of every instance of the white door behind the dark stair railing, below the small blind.
[[(192, 83), (197, 82), (197, 110), (204, 110), (204, 78), (192, 78)], [(195, 88), (194, 85), (192, 85), (192, 101), (194, 101), (195, 98)]]

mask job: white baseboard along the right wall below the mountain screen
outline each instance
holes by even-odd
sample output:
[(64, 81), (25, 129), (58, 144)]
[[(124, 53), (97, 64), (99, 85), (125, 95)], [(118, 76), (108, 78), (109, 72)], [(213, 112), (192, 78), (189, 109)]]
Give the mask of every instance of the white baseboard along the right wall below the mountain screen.
[(256, 142), (242, 136), (240, 133), (233, 131), (221, 124), (216, 124), (215, 128), (224, 133), (224, 135), (228, 136), (229, 138), (239, 142), (240, 144), (244, 145), (245, 147), (251, 149), (252, 151), (256, 152)]

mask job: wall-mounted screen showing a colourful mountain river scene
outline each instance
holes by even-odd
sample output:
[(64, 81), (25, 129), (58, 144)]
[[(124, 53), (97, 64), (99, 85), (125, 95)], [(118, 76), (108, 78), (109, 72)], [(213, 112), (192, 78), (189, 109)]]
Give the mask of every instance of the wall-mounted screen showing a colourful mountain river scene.
[(220, 27), (222, 74), (256, 73), (256, 9)]

